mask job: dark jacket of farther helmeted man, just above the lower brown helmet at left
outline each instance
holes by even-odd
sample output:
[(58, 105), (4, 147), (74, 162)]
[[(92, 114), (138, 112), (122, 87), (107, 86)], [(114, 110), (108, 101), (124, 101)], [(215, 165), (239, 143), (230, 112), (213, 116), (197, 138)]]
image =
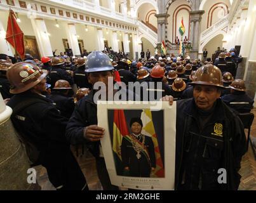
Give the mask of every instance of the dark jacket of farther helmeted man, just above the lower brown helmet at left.
[(60, 68), (60, 66), (53, 66), (50, 72), (50, 84), (51, 84), (51, 89), (54, 88), (55, 82), (58, 80), (65, 80), (68, 81), (69, 84), (74, 84), (74, 81), (64, 69)]

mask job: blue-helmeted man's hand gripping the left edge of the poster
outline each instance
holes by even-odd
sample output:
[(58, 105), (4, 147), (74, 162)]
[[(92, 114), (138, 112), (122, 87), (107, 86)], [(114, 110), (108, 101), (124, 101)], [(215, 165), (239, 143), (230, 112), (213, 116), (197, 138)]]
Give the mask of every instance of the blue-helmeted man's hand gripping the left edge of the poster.
[(105, 134), (105, 129), (97, 125), (92, 125), (84, 128), (84, 138), (89, 141), (100, 141)]

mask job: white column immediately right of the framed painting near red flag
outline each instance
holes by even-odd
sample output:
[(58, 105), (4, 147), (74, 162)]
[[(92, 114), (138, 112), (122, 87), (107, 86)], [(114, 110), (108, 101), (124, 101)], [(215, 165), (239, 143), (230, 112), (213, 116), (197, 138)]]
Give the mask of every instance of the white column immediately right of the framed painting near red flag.
[(36, 41), (41, 56), (53, 56), (50, 43), (50, 33), (46, 29), (46, 25), (43, 18), (31, 18), (32, 27), (36, 35)]

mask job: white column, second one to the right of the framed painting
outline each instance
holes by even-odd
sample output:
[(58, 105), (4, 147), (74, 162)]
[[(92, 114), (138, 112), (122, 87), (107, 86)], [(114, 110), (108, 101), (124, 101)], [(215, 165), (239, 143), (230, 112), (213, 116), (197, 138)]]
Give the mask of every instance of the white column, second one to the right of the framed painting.
[(72, 49), (74, 56), (81, 56), (79, 44), (76, 35), (76, 26), (74, 23), (68, 23), (65, 26), (67, 32), (67, 41), (69, 41), (69, 47)]

